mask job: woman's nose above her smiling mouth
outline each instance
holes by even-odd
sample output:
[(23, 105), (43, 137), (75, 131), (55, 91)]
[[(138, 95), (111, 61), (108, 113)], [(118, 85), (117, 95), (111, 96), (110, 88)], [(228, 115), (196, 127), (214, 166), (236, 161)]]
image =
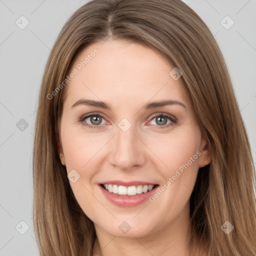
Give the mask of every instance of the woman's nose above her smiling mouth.
[(145, 145), (138, 138), (133, 126), (117, 132), (111, 143), (110, 163), (122, 170), (132, 170), (145, 163)]

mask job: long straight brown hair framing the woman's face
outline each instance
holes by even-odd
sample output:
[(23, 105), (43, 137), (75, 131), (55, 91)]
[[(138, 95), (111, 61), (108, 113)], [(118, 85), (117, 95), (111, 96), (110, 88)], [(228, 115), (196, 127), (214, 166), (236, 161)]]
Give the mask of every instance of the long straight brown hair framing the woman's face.
[[(33, 148), (33, 221), (40, 256), (92, 253), (95, 229), (73, 195), (56, 138), (68, 86), (62, 81), (71, 61), (83, 47), (109, 37), (147, 45), (183, 73), (180, 79), (212, 153), (190, 197), (191, 236), (198, 233), (206, 241), (209, 256), (256, 255), (255, 169), (213, 35), (181, 0), (92, 0), (64, 24), (42, 77)], [(228, 234), (221, 229), (225, 221), (234, 226)]]

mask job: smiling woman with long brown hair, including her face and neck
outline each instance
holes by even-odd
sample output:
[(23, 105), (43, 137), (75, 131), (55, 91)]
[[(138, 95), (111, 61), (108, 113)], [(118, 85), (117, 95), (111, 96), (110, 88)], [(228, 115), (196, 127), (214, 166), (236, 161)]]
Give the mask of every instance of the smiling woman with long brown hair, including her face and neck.
[(255, 170), (221, 52), (180, 0), (93, 0), (42, 78), (40, 255), (256, 255)]

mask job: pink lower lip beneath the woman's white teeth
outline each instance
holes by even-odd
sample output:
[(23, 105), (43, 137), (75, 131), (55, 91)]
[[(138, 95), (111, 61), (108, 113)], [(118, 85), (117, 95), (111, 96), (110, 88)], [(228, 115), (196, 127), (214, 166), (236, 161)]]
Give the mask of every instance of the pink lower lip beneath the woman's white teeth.
[(156, 188), (158, 185), (156, 185), (153, 189), (150, 191), (147, 191), (145, 193), (136, 194), (136, 195), (119, 195), (115, 193), (110, 193), (108, 190), (103, 188), (101, 185), (99, 185), (101, 191), (103, 192), (104, 196), (113, 204), (117, 206), (122, 207), (132, 207), (137, 206), (144, 201), (146, 201), (153, 193), (155, 193)]

